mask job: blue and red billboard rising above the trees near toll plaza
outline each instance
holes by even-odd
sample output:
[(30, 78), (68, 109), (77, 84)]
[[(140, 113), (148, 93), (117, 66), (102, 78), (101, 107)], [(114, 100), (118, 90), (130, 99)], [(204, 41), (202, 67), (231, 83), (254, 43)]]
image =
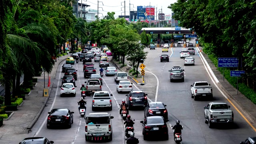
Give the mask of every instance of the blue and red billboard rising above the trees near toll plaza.
[(155, 6), (137, 6), (138, 20), (155, 20)]

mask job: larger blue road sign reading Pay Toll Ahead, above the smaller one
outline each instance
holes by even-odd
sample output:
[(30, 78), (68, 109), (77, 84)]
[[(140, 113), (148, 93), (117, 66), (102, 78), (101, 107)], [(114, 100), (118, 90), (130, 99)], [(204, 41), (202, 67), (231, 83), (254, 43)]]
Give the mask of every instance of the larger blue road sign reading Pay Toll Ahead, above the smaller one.
[(238, 67), (238, 58), (218, 58), (219, 68), (233, 68)]

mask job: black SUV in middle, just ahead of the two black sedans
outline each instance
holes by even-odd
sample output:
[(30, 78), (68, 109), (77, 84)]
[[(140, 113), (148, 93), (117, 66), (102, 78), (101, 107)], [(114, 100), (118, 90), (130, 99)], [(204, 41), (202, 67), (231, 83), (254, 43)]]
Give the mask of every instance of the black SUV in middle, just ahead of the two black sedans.
[(126, 94), (126, 103), (129, 108), (133, 106), (146, 106), (148, 104), (147, 95), (143, 90), (132, 90), (129, 94)]

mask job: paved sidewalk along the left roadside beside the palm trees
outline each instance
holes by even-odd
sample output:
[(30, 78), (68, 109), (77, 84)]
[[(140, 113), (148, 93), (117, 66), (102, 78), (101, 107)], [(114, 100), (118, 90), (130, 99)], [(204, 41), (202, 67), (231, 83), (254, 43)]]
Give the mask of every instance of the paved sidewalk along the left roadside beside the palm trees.
[(66, 60), (67, 57), (68, 55), (62, 56), (55, 62), (52, 72), (49, 74), (51, 77), (50, 87), (47, 87), (48, 74), (45, 74), (46, 88), (49, 90), (48, 97), (43, 96), (44, 76), (35, 77), (38, 78), (36, 86), (31, 90), (29, 96), (26, 96), (26, 100), (24, 100), (23, 104), (18, 107), (18, 110), (13, 112), (12, 117), (9, 120), (4, 120), (3, 126), (0, 127), (0, 137), (5, 134), (28, 134), (29, 130), (32, 129), (44, 110), (45, 104), (50, 97), (58, 65)]

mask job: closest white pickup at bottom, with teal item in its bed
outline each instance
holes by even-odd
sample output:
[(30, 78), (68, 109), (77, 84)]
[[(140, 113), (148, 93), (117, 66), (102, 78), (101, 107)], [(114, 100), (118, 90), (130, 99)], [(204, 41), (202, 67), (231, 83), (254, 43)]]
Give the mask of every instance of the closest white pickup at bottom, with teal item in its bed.
[(85, 140), (92, 142), (112, 140), (112, 121), (114, 116), (106, 112), (90, 113), (85, 116)]

